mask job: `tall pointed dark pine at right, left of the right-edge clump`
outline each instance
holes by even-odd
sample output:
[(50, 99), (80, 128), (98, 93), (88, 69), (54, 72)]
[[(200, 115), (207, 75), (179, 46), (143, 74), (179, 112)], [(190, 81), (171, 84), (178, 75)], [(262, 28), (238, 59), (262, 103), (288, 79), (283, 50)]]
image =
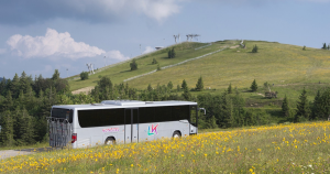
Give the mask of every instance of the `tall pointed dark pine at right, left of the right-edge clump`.
[(307, 91), (304, 88), (301, 95), (299, 96), (299, 100), (297, 104), (297, 113), (295, 116), (296, 122), (304, 121), (309, 118), (310, 111), (309, 111), (309, 104), (308, 104), (306, 94), (307, 94)]

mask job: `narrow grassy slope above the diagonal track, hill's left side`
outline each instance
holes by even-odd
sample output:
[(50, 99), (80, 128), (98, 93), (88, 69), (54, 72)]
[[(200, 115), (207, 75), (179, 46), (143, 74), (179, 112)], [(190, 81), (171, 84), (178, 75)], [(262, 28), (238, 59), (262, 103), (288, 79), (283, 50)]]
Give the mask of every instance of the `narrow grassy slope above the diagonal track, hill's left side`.
[[(224, 44), (232, 45), (232, 43), (233, 42), (226, 42)], [(185, 59), (194, 58), (194, 57), (207, 54), (209, 52), (219, 50), (219, 45), (217, 44), (217, 45), (212, 45), (212, 46), (208, 46), (206, 48), (195, 51), (196, 47), (200, 47), (204, 45), (207, 45), (207, 44), (205, 44), (205, 43), (183, 43), (183, 44), (176, 45), (175, 51), (176, 51), (177, 57), (172, 58), (172, 59), (167, 58), (167, 50), (161, 50), (161, 51), (157, 51), (155, 53), (152, 53), (150, 55), (139, 58), (136, 61), (138, 66), (139, 66), (138, 70), (131, 72), (130, 70), (130, 62), (123, 63), (123, 64), (117, 65), (114, 67), (108, 68), (107, 70), (100, 72), (96, 75), (91, 75), (89, 77), (89, 79), (87, 79), (87, 80), (80, 80), (80, 79), (70, 80), (69, 81), (70, 89), (76, 90), (76, 89), (88, 87), (88, 86), (96, 86), (97, 80), (99, 79), (100, 75), (109, 76), (113, 84), (120, 84), (127, 78), (130, 78), (130, 77), (133, 77), (136, 75), (141, 75), (144, 73), (148, 73), (148, 72), (156, 69), (157, 65), (152, 65), (153, 58), (155, 58), (162, 67), (162, 66), (173, 65), (173, 64), (183, 62)]]

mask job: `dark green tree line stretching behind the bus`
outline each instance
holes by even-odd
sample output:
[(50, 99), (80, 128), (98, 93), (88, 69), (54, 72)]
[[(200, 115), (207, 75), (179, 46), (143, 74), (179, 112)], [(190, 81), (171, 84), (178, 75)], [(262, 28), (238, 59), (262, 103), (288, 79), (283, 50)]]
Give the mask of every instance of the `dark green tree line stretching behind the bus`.
[[(199, 94), (191, 91), (204, 90), (200, 76), (194, 88), (189, 88), (185, 79), (175, 85), (152, 86), (138, 90), (129, 84), (112, 84), (107, 76), (100, 77), (90, 94), (73, 95), (66, 79), (59, 78), (56, 69), (52, 78), (41, 75), (34, 79), (23, 72), (12, 79), (0, 83), (0, 145), (24, 145), (48, 141), (46, 117), (51, 115), (54, 105), (95, 104), (102, 100), (131, 99), (143, 101), (189, 100), (198, 102), (207, 109), (207, 115), (199, 115), (199, 128), (233, 128), (244, 126), (261, 126), (270, 123), (270, 115), (256, 112), (245, 107), (245, 100), (231, 84), (220, 95)], [(251, 91), (257, 90), (253, 80)], [(330, 115), (330, 88), (318, 91), (314, 101), (308, 101), (306, 90), (298, 99), (297, 108), (289, 108), (284, 98), (282, 112), (285, 118), (294, 121), (326, 120)]]

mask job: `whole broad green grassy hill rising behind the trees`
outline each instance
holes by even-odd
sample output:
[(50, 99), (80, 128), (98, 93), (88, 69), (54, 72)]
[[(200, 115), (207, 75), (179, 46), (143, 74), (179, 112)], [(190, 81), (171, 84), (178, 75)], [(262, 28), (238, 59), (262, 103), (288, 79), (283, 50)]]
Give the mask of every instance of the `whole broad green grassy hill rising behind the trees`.
[[(167, 51), (157, 51), (139, 58), (138, 70), (130, 70), (130, 62), (111, 67), (99, 74), (91, 75), (90, 79), (70, 80), (72, 90), (82, 87), (95, 86), (99, 76), (109, 76), (114, 84), (124, 79), (145, 74), (156, 69), (152, 59), (156, 58), (161, 67), (173, 65), (189, 58), (198, 57), (220, 48), (227, 48), (204, 58), (190, 61), (182, 65), (162, 69), (160, 72), (129, 80), (129, 85), (144, 89), (148, 84), (164, 85), (169, 80), (174, 86), (186, 79), (190, 88), (195, 87), (199, 76), (204, 77), (206, 88), (227, 88), (231, 83), (233, 87), (249, 88), (252, 80), (256, 79), (262, 85), (265, 81), (274, 86), (288, 84), (329, 83), (330, 79), (330, 52), (324, 50), (309, 48), (302, 51), (301, 46), (287, 45), (274, 42), (245, 41), (246, 48), (238, 45), (239, 41), (215, 42), (211, 46), (200, 50), (196, 47), (207, 44), (183, 43), (176, 45), (176, 58), (167, 58)], [(258, 53), (251, 53), (253, 45), (258, 46)]]

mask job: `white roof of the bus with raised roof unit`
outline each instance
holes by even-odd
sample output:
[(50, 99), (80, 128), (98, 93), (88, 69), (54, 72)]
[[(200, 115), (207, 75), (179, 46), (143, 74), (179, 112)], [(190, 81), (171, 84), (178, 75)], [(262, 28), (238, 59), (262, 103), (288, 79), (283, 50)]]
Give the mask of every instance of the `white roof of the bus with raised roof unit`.
[(143, 107), (162, 107), (162, 106), (186, 106), (197, 105), (191, 101), (139, 101), (139, 100), (103, 100), (101, 104), (88, 105), (58, 105), (53, 108), (63, 109), (109, 109), (109, 108), (143, 108)]

